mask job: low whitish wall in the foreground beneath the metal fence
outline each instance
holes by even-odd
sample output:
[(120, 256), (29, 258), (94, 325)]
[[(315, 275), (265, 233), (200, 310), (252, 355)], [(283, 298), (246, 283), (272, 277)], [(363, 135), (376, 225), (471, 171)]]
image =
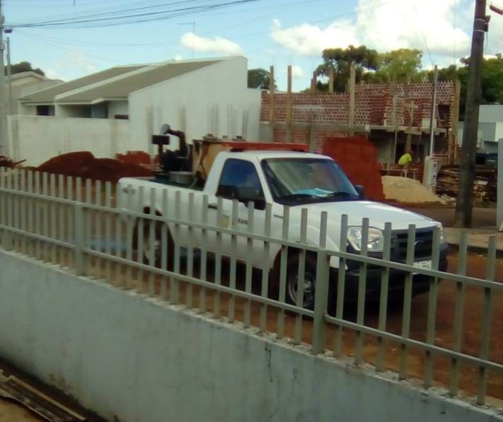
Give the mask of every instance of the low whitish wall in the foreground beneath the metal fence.
[(109, 420), (502, 420), (16, 254), (0, 268), (0, 356)]

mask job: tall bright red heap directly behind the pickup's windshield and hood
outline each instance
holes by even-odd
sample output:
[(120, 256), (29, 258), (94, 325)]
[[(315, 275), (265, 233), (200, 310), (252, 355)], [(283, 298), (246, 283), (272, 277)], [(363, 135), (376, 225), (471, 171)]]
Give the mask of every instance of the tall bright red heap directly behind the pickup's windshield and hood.
[(362, 136), (330, 137), (323, 143), (323, 154), (333, 158), (353, 184), (362, 184), (366, 198), (384, 201), (381, 165), (371, 141)]

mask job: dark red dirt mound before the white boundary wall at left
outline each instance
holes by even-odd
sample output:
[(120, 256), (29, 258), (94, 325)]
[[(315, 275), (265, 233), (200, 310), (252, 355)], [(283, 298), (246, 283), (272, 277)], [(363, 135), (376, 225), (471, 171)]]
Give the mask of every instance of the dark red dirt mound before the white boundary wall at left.
[(151, 170), (136, 164), (123, 163), (112, 158), (96, 158), (89, 151), (79, 151), (56, 156), (40, 165), (37, 170), (82, 177), (83, 179), (117, 182), (121, 177), (151, 176)]

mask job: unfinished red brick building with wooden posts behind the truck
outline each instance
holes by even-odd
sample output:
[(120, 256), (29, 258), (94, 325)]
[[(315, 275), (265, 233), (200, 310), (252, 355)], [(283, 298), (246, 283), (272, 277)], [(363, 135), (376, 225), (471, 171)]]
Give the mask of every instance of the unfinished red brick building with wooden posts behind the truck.
[[(433, 83), (355, 84), (353, 78), (346, 93), (321, 92), (314, 83), (303, 93), (289, 87), (262, 92), (262, 139), (307, 142), (322, 152), (328, 138), (360, 135), (374, 143), (383, 165), (410, 148), (419, 160), (429, 153)], [(457, 81), (437, 85), (434, 153), (442, 163), (456, 161), (459, 92)]]

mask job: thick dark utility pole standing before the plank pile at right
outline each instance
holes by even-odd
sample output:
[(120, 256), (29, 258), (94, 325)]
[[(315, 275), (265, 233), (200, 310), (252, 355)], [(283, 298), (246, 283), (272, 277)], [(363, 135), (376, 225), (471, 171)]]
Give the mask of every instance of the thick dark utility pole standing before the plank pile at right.
[(456, 201), (456, 227), (470, 227), (473, 209), (473, 182), (475, 180), (475, 155), (477, 153), (478, 108), (482, 79), (484, 32), (488, 19), (485, 16), (485, 1), (476, 0), (473, 20), (472, 47), (470, 52), (470, 78), (466, 93), (465, 124), (461, 145), (458, 198)]

